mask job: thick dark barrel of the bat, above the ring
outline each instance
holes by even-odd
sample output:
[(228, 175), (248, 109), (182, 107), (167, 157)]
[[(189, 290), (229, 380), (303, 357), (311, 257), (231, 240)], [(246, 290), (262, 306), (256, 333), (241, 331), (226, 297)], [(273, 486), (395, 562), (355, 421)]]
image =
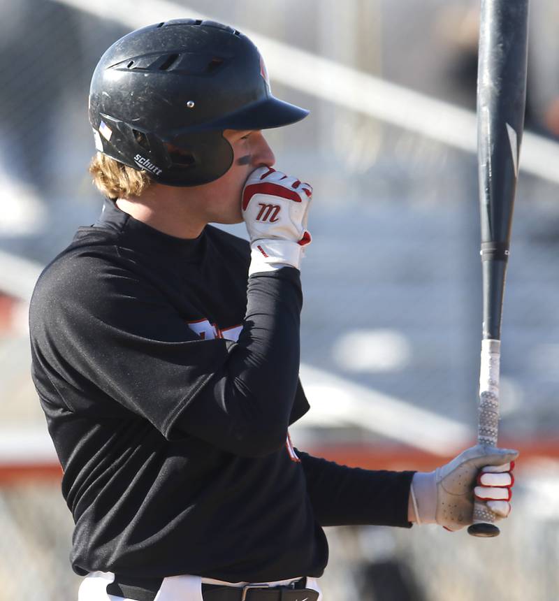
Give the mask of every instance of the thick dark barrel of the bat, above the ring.
[(482, 243), (510, 240), (527, 52), (528, 0), (482, 0), (477, 80)]

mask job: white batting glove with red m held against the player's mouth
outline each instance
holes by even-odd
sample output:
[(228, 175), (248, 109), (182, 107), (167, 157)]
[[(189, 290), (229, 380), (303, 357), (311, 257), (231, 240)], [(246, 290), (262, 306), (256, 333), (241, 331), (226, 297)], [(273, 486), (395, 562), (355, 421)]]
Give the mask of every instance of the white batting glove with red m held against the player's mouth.
[(271, 167), (259, 167), (242, 191), (242, 218), (251, 242), (249, 275), (300, 268), (311, 242), (307, 218), (312, 187)]

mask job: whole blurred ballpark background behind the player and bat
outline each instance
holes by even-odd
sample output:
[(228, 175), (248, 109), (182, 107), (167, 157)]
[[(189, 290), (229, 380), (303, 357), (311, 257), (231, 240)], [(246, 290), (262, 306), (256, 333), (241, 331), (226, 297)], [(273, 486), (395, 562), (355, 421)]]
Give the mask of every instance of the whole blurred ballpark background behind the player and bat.
[[(0, 601), (75, 599), (71, 517), (29, 378), (41, 268), (101, 198), (87, 92), (127, 31), (212, 18), (254, 36), (274, 92), (310, 108), (270, 131), (314, 186), (296, 444), (430, 470), (474, 439), (481, 338), (477, 0), (0, 0)], [(559, 5), (532, 3), (528, 111), (502, 349), (502, 440), (519, 447), (498, 540), (330, 529), (326, 600), (551, 601), (559, 548)], [(233, 227), (242, 234), (242, 228)]]

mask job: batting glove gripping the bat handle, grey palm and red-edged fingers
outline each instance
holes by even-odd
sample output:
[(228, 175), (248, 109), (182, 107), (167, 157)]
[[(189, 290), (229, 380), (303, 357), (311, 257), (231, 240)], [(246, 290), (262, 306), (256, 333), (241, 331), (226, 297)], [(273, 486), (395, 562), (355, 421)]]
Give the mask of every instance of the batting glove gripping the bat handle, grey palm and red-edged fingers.
[(473, 521), (474, 497), (486, 501), (497, 519), (506, 518), (516, 457), (513, 449), (478, 444), (434, 472), (416, 472), (410, 491), (416, 522), (460, 530)]

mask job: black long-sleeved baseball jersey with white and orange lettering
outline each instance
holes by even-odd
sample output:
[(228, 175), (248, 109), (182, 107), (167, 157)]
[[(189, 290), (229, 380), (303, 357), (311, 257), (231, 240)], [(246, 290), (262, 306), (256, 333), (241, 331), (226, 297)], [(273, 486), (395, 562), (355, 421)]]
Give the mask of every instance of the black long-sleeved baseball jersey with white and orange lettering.
[(33, 377), (75, 521), (71, 561), (129, 577), (320, 576), (321, 526), (409, 526), (411, 472), (291, 447), (299, 273), (248, 280), (247, 242), (166, 236), (106, 202), (43, 272)]

